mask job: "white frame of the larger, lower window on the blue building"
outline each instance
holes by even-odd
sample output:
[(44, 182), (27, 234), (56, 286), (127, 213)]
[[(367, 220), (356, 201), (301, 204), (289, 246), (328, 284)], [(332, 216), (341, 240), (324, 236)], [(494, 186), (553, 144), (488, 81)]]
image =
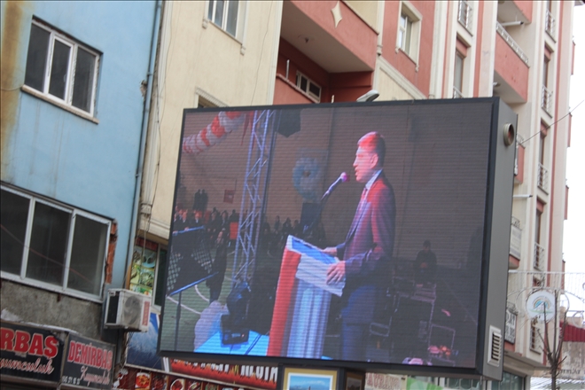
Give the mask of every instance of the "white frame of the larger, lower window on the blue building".
[[(93, 300), (96, 302), (102, 302), (102, 295), (104, 293), (104, 281), (105, 281), (105, 262), (107, 261), (108, 255), (108, 247), (110, 244), (110, 232), (112, 230), (112, 221), (106, 219), (104, 217), (98, 216), (96, 214), (90, 214), (86, 211), (83, 211), (76, 207), (69, 207), (63, 204), (60, 204), (56, 201), (52, 201), (51, 199), (44, 199), (39, 196), (32, 195), (30, 193), (19, 191), (15, 188), (2, 185), (1, 186), (3, 191), (12, 192), (15, 195), (20, 196), (21, 198), (28, 199), (28, 214), (27, 214), (27, 228), (25, 233), (25, 241), (24, 241), (24, 248), (22, 251), (22, 261), (20, 263), (20, 274), (12, 274), (11, 272), (0, 271), (0, 277), (3, 279), (8, 279), (12, 281), (16, 281), (22, 283), (24, 285), (32, 285), (35, 287), (41, 287), (45, 290), (49, 290), (52, 292), (59, 292), (64, 293), (66, 295), (71, 295), (74, 297), (83, 298), (86, 300)], [(66, 212), (69, 214), (69, 231), (67, 232), (66, 238), (66, 259), (63, 264), (63, 283), (61, 285), (54, 285), (48, 282), (44, 282), (43, 280), (34, 279), (27, 277), (27, 266), (28, 266), (28, 250), (30, 246), (30, 239), (33, 230), (33, 221), (35, 218), (35, 205), (36, 203), (41, 203), (45, 206), (56, 208), (60, 211)], [(82, 292), (80, 290), (75, 290), (72, 288), (67, 288), (67, 284), (69, 281), (69, 269), (71, 264), (71, 251), (73, 247), (73, 238), (74, 238), (74, 230), (75, 230), (75, 217), (77, 215), (83, 216), (87, 219), (100, 222), (106, 225), (105, 231), (105, 248), (104, 248), (104, 259), (103, 259), (103, 272), (101, 276), (101, 280), (99, 281), (100, 284), (100, 292), (98, 295), (91, 294), (89, 292)]]

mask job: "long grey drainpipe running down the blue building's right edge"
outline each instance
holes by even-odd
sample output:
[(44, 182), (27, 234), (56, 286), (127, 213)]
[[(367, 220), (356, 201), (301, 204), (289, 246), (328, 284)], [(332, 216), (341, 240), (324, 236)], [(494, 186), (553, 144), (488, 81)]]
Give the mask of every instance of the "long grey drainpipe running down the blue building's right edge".
[(162, 0), (157, 0), (154, 12), (154, 21), (152, 23), (152, 39), (151, 39), (151, 57), (148, 64), (148, 74), (146, 74), (146, 98), (144, 99), (144, 111), (142, 114), (142, 131), (140, 133), (140, 151), (138, 154), (138, 161), (136, 164), (136, 184), (134, 187), (134, 200), (132, 203), (132, 220), (130, 222), (130, 234), (128, 239), (128, 254), (126, 256), (126, 265), (124, 268), (124, 279), (128, 277), (128, 269), (132, 254), (134, 253), (134, 239), (136, 235), (136, 225), (138, 222), (138, 205), (140, 202), (140, 189), (142, 185), (142, 175), (144, 172), (144, 151), (146, 149), (146, 133), (148, 132), (148, 118), (151, 113), (152, 100), (152, 77), (154, 74), (154, 63), (156, 62), (156, 48), (159, 42), (160, 30), (160, 9), (162, 8)]

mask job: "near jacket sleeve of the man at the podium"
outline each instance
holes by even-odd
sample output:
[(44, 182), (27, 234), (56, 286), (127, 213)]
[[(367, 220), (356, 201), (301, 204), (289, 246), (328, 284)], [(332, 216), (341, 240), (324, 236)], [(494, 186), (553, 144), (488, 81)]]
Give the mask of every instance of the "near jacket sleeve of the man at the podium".
[[(394, 191), (385, 180), (375, 187), (372, 186), (372, 190), (374, 191), (368, 194), (367, 214), (363, 216), (363, 222), (361, 222), (370, 223), (372, 244), (368, 245), (364, 252), (345, 259), (348, 281), (353, 277), (368, 277), (377, 271), (386, 270), (381, 262), (387, 265), (394, 253), (396, 216)], [(343, 255), (345, 246), (341, 246), (341, 255)]]

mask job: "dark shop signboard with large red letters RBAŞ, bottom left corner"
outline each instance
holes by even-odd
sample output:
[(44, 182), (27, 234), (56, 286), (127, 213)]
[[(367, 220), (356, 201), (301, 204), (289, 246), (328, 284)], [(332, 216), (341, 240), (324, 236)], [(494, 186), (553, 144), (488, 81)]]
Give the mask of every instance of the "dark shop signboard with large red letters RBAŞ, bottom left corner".
[(2, 321), (0, 374), (19, 381), (58, 383), (66, 333)]

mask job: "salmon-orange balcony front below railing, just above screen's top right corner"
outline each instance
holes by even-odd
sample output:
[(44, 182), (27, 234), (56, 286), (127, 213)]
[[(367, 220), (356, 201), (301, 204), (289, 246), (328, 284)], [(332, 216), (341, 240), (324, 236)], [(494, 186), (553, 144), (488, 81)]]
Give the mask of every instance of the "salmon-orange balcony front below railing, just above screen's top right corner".
[(519, 96), (528, 98), (528, 66), (512, 51), (499, 34), (495, 35), (495, 72), (503, 77)]

